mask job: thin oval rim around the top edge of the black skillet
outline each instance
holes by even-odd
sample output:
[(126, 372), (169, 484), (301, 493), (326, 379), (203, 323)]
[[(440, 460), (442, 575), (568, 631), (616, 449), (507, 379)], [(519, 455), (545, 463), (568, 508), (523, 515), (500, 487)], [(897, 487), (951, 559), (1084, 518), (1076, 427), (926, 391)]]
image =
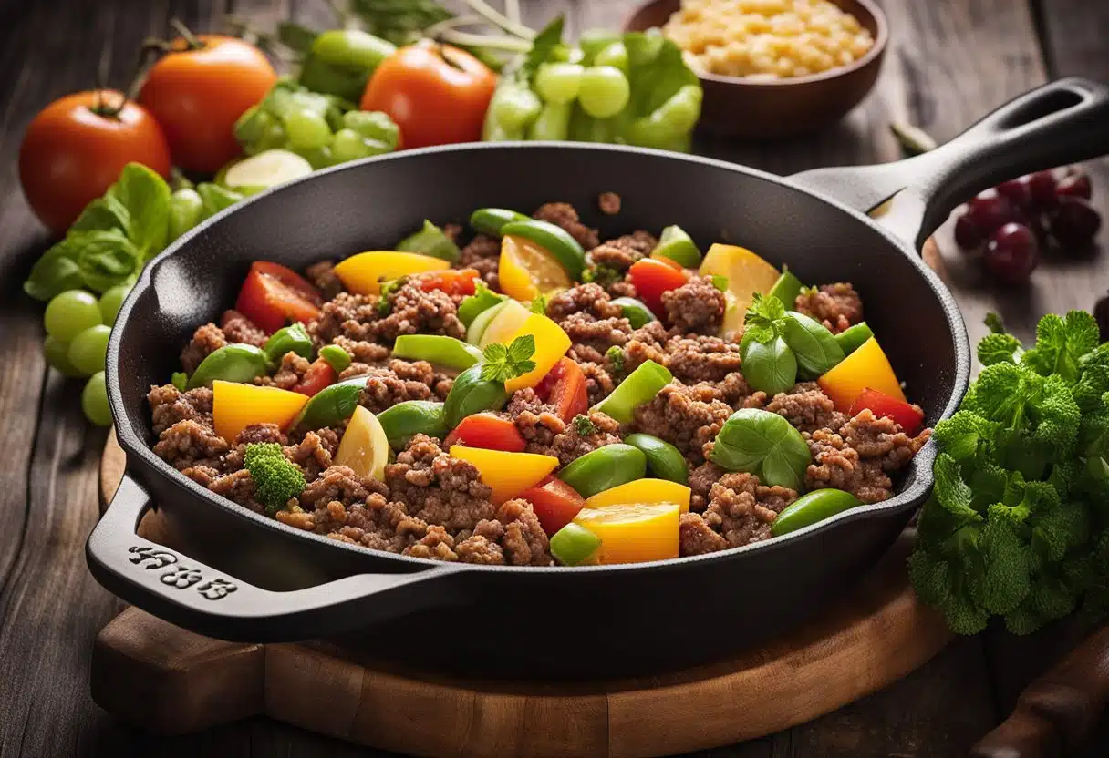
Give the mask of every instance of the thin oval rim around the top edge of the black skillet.
[[(258, 202), (265, 197), (268, 197), (275, 193), (281, 193), (289, 187), (299, 185), (305, 182), (315, 181), (317, 177), (323, 177), (334, 173), (345, 172), (345, 171), (359, 171), (363, 166), (373, 165), (377, 163), (385, 163), (389, 161), (404, 161), (409, 157), (420, 157), (425, 155), (436, 155), (440, 153), (460, 153), (460, 152), (478, 152), (478, 151), (519, 151), (519, 150), (574, 150), (580, 152), (594, 152), (594, 153), (625, 153), (631, 155), (648, 155), (654, 158), (662, 158), (667, 161), (675, 161), (678, 163), (695, 163), (713, 168), (722, 168), (724, 171), (734, 172), (739, 174), (745, 174), (749, 176), (754, 176), (757, 178), (770, 181), (774, 184), (783, 184), (792, 190), (798, 191), (808, 197), (816, 201), (831, 205), (833, 208), (841, 211), (849, 216), (853, 216), (856, 221), (861, 221), (872, 229), (878, 232), (887, 243), (901, 255), (909, 259), (909, 263), (917, 270), (917, 274), (923, 278), (923, 283), (928, 286), (944, 310), (945, 316), (948, 321), (948, 329), (953, 338), (955, 348), (955, 381), (952, 390), (952, 395), (947, 400), (946, 407), (940, 411), (939, 417), (936, 421), (949, 418), (955, 410), (958, 408), (958, 403), (962, 401), (963, 396), (966, 392), (967, 386), (969, 383), (970, 375), (970, 344), (969, 337), (967, 335), (966, 322), (963, 319), (962, 311), (955, 301), (954, 296), (950, 290), (947, 289), (946, 285), (939, 279), (935, 272), (933, 272), (928, 266), (924, 264), (923, 258), (917, 254), (909, 242), (896, 236), (891, 229), (885, 227), (883, 224), (877, 223), (874, 218), (869, 217), (865, 213), (861, 213), (843, 202), (820, 194), (807, 187), (791, 181), (788, 176), (779, 176), (771, 174), (759, 168), (752, 168), (743, 164), (731, 163), (728, 161), (721, 161), (718, 158), (705, 157), (701, 155), (692, 155), (688, 153), (674, 153), (670, 151), (653, 150), (648, 147), (634, 147), (628, 145), (614, 145), (606, 143), (577, 143), (577, 142), (550, 142), (550, 141), (537, 141), (537, 142), (474, 142), (474, 143), (462, 143), (452, 145), (437, 145), (433, 147), (421, 147), (416, 150), (407, 150), (395, 153), (388, 153), (385, 155), (378, 155), (369, 158), (363, 158), (360, 161), (352, 161), (348, 163), (339, 164), (337, 166), (332, 166), (323, 171), (313, 172), (307, 176), (303, 176), (293, 182), (282, 184), (275, 187), (271, 187), (265, 192), (252, 195), (246, 199), (236, 203), (235, 205), (221, 211), (220, 213), (205, 219), (202, 224), (199, 224), (194, 228), (190, 229), (187, 233), (175, 239), (171, 245), (169, 245), (162, 253), (154, 257), (142, 270), (139, 279), (135, 281), (134, 287), (128, 294), (122, 307), (120, 308), (119, 315), (116, 317), (116, 326), (121, 328), (116, 329), (113, 327), (111, 337), (108, 344), (108, 360), (106, 360), (106, 385), (108, 385), (108, 400), (109, 406), (112, 411), (112, 420), (115, 428), (116, 440), (120, 447), (123, 448), (128, 458), (128, 467), (124, 471), (124, 477), (133, 477), (133, 465), (138, 463), (142, 464), (147, 472), (156, 473), (159, 477), (167, 481), (170, 484), (184, 490), (192, 496), (199, 496), (207, 501), (212, 505), (216, 505), (223, 510), (228, 511), (232, 515), (240, 519), (247, 520), (254, 525), (263, 529), (269, 529), (281, 532), (284, 535), (295, 536), (297, 539), (309, 539), (322, 544), (326, 544), (330, 547), (338, 547), (343, 550), (349, 550), (355, 553), (362, 553), (370, 555), (375, 559), (381, 560), (387, 559), (389, 561), (399, 562), (399, 564), (405, 565), (413, 572), (427, 571), (436, 566), (441, 566), (441, 561), (433, 561), (431, 559), (413, 557), (410, 555), (400, 555), (398, 553), (389, 553), (386, 551), (374, 550), (366, 547), (364, 545), (356, 545), (346, 542), (339, 542), (337, 540), (330, 540), (323, 534), (316, 534), (314, 532), (305, 532), (304, 530), (295, 529), (293, 526), (281, 523), (275, 519), (271, 519), (260, 513), (255, 513), (247, 508), (244, 508), (226, 498), (215, 494), (214, 492), (202, 488), (199, 483), (184, 477), (180, 471), (171, 467), (169, 463), (163, 461), (161, 458), (154, 454), (153, 450), (146, 444), (146, 442), (140, 439), (139, 434), (134, 432), (135, 420), (131, 418), (128, 413), (126, 408), (123, 402), (123, 395), (120, 390), (119, 382), (119, 358), (120, 358), (120, 345), (123, 340), (123, 334), (131, 320), (131, 311), (134, 309), (135, 301), (138, 298), (153, 284), (154, 272), (161, 267), (165, 260), (172, 258), (176, 255), (182, 254), (183, 250), (189, 246), (194, 237), (200, 236), (208, 229), (208, 227), (214, 226), (224, 221), (231, 214), (236, 213), (241, 208), (246, 207), (250, 204)], [(882, 255), (887, 255), (888, 253), (883, 252)], [(123, 420), (125, 423), (120, 423)], [(149, 422), (143, 419), (140, 427), (147, 427)], [(844, 527), (847, 524), (856, 520), (868, 520), (873, 518), (878, 518), (881, 515), (893, 515), (895, 513), (901, 513), (903, 511), (909, 511), (917, 508), (923, 503), (923, 500), (927, 496), (932, 485), (933, 485), (933, 474), (932, 474), (932, 463), (935, 459), (935, 441), (929, 440), (913, 458), (909, 464), (908, 471), (906, 473), (906, 480), (903, 483), (901, 492), (897, 492), (893, 498), (884, 500), (879, 503), (872, 503), (867, 505), (857, 506), (847, 511), (843, 511), (834, 516), (825, 519), (823, 521), (816, 522), (803, 529), (788, 534), (773, 537), (771, 540), (765, 540), (762, 542), (750, 543), (740, 547), (729, 547), (728, 550), (718, 551), (714, 553), (705, 553), (702, 555), (689, 555), (676, 559), (667, 559), (664, 561), (650, 561), (644, 563), (624, 563), (624, 564), (613, 564), (606, 566), (497, 566), (497, 565), (479, 565), (479, 564), (459, 564), (458, 568), (462, 571), (476, 571), (476, 572), (497, 572), (497, 573), (523, 573), (523, 574), (558, 574), (567, 577), (579, 576), (582, 574), (593, 574), (597, 572), (659, 572), (667, 570), (692, 570), (693, 567), (700, 565), (703, 562), (711, 561), (732, 561), (742, 560), (741, 556), (746, 554), (757, 554), (762, 552), (770, 552), (773, 550), (782, 549), (793, 542), (802, 541), (808, 537), (813, 537), (825, 531), (831, 531), (833, 529)], [(141, 483), (141, 482), (140, 482)], [(144, 488), (145, 489), (145, 488)], [(153, 495), (151, 495), (153, 500)], [(109, 504), (109, 508), (111, 504)]]

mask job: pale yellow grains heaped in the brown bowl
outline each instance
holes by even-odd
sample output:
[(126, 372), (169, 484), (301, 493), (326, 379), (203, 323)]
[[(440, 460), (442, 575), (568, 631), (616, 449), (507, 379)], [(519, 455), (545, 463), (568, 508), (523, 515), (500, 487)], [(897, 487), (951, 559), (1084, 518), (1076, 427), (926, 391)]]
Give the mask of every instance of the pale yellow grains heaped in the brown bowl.
[(756, 81), (851, 65), (874, 47), (828, 0), (682, 0), (662, 31), (694, 71)]

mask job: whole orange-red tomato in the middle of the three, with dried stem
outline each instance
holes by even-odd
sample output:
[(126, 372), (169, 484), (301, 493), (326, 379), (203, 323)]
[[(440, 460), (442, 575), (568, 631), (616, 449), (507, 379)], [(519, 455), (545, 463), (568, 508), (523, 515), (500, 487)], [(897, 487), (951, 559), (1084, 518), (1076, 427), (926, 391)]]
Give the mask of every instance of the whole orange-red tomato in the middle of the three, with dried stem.
[(238, 116), (277, 81), (252, 44), (218, 34), (171, 42), (172, 52), (150, 70), (139, 102), (165, 130), (173, 161), (185, 171), (213, 173), (238, 155)]

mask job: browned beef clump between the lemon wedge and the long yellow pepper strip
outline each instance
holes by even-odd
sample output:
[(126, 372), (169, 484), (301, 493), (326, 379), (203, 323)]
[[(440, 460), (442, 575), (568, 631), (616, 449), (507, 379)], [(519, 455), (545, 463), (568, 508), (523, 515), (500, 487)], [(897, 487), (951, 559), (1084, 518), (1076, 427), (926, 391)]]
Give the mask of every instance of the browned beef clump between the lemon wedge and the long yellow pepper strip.
[(472, 530), (494, 518), (492, 490), (474, 464), (451, 458), (425, 434), (413, 437), (396, 463), (385, 467), (385, 481), (411, 515), (449, 532)]

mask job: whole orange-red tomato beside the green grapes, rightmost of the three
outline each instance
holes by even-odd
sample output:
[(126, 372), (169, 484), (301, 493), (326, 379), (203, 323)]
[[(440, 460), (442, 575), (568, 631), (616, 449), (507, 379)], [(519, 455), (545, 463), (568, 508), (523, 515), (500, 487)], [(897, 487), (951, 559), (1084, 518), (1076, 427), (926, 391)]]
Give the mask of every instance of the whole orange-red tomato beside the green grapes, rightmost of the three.
[(381, 61), (359, 107), (384, 111), (405, 147), (481, 140), (497, 75), (465, 50), (421, 40)]

